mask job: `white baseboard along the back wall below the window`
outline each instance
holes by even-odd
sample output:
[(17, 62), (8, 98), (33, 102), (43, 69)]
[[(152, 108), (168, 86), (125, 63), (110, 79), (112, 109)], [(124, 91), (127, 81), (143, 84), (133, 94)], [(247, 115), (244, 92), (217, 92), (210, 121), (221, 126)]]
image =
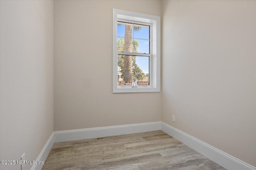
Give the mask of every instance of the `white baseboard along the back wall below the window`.
[(160, 121), (150, 123), (138, 123), (131, 125), (77, 129), (70, 131), (57, 131), (54, 132), (54, 142), (74, 141), (81, 139), (91, 139), (98, 137), (108, 137), (114, 135), (125, 135), (130, 133), (140, 133), (159, 130), (161, 130)]

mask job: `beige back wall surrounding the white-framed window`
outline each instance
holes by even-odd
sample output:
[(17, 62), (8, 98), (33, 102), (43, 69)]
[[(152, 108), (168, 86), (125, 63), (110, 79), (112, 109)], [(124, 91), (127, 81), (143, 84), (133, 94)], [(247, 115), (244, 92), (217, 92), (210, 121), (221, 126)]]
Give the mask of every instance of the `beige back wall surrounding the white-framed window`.
[(161, 16), (161, 2), (54, 2), (54, 131), (161, 120), (161, 94), (112, 93), (113, 8)]

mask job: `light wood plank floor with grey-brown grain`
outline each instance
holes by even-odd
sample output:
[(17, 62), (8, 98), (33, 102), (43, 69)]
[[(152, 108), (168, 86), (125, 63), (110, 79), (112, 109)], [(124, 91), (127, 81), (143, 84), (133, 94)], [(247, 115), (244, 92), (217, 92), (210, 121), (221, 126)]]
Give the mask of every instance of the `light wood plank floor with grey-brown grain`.
[(42, 170), (225, 170), (163, 131), (54, 143)]

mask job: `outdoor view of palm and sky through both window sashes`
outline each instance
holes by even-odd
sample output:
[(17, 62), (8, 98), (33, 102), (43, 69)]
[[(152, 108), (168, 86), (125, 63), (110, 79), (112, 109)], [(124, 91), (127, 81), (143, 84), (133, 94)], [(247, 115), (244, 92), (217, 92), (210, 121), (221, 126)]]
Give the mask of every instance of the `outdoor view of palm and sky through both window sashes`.
[(150, 26), (117, 22), (118, 85), (150, 85)]

